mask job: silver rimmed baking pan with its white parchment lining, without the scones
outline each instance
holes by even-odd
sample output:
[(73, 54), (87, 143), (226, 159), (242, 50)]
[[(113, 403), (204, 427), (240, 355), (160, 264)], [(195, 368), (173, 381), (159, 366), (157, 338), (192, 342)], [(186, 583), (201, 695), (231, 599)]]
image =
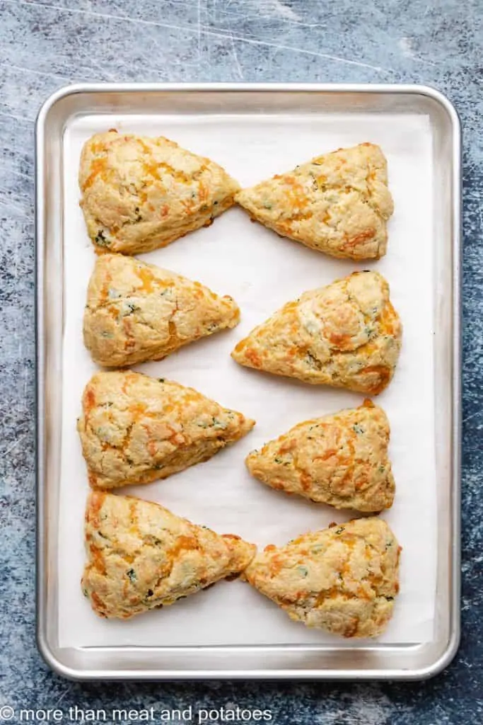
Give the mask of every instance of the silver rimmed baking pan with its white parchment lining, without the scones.
[[(404, 336), (395, 380), (380, 397), (391, 421), (398, 485), (386, 518), (403, 546), (401, 595), (381, 639), (341, 641), (306, 630), (242, 582), (217, 585), (172, 612), (149, 613), (132, 629), (96, 619), (83, 600), (78, 579), (88, 486), (75, 417), (95, 369), (81, 333), (94, 255), (78, 207), (77, 169), (83, 141), (108, 128), (173, 138), (221, 162), (243, 185), (337, 146), (374, 141), (385, 151), (395, 215), (379, 262), (317, 255), (249, 224), (239, 209), (143, 255), (234, 294), (242, 323), (196, 353), (186, 349), (138, 369), (193, 384), (253, 413), (257, 426), (233, 452), (136, 491), (261, 546), (340, 520), (327, 507), (288, 502), (249, 481), (243, 456), (289, 423), (358, 404), (360, 397), (267, 382), (238, 370), (229, 352), (253, 315), (261, 320), (298, 292), (355, 269), (382, 271)], [(450, 102), (422, 86), (80, 85), (43, 105), (36, 128), (38, 644), (59, 674), (423, 679), (450, 662), (459, 637), (460, 136)], [(288, 394), (292, 405), (281, 408)]]

